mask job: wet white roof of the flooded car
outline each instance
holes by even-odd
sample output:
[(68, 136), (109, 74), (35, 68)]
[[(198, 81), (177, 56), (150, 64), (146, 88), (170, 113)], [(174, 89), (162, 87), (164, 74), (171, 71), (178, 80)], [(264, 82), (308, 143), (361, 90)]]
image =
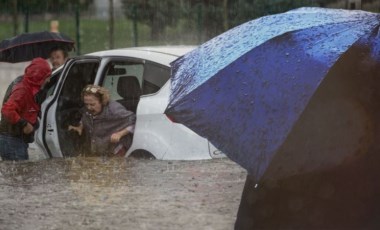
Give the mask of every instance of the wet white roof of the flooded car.
[(123, 49), (104, 50), (86, 54), (85, 56), (122, 56), (133, 57), (167, 65), (178, 57), (197, 48), (196, 46), (146, 46), (146, 47), (130, 47)]

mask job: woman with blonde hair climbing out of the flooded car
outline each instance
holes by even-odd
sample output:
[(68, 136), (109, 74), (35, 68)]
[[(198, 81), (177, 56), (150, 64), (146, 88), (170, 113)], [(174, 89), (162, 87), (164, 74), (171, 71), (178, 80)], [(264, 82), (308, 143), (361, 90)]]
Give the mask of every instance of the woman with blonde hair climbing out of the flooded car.
[(85, 135), (91, 155), (124, 156), (132, 144), (136, 116), (120, 103), (110, 100), (106, 88), (87, 85), (82, 91), (84, 111), (79, 126), (69, 125)]

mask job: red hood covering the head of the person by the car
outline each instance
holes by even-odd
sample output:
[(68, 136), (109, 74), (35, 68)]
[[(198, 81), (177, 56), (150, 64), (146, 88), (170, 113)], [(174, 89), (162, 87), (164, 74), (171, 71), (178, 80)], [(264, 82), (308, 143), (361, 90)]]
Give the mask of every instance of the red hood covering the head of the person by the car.
[(35, 58), (25, 69), (24, 81), (32, 88), (39, 89), (50, 75), (49, 63), (43, 58)]

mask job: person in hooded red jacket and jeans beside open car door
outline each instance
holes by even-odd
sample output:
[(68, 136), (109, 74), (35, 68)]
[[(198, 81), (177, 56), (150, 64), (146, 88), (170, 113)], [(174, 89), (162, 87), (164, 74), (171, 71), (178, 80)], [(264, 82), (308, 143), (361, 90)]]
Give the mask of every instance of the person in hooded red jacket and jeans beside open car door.
[(1, 108), (0, 155), (2, 160), (28, 160), (28, 143), (33, 142), (40, 106), (34, 97), (51, 75), (49, 63), (35, 58), (25, 68), (23, 80), (15, 85)]

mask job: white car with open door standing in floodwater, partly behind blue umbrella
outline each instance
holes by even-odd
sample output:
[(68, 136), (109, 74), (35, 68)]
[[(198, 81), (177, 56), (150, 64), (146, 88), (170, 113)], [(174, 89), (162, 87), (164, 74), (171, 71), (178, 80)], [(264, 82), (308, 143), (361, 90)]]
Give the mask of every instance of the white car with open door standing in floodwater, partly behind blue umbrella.
[(170, 94), (170, 63), (194, 48), (136, 47), (69, 59), (52, 75), (41, 105), (36, 145), (47, 157), (77, 154), (81, 143), (70, 137), (67, 126), (80, 119), (84, 86), (96, 84), (108, 88), (111, 99), (136, 113), (133, 143), (126, 156), (144, 153), (163, 160), (224, 157), (207, 139), (164, 114)]

